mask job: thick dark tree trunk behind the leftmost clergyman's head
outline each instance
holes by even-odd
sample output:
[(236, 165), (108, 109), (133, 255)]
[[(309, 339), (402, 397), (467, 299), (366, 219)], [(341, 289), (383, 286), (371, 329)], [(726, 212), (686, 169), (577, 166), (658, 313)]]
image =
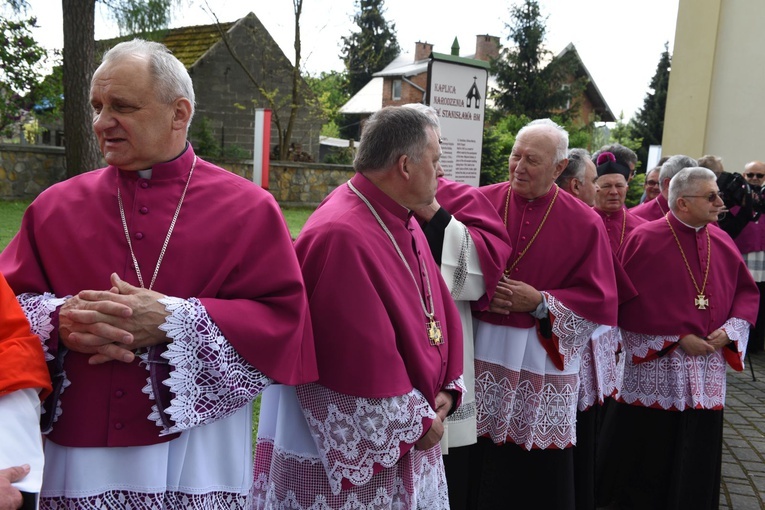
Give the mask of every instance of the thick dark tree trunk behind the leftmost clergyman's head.
[(72, 177), (98, 168), (101, 161), (90, 107), (90, 78), (95, 66), (96, 0), (62, 0), (61, 4), (66, 175)]

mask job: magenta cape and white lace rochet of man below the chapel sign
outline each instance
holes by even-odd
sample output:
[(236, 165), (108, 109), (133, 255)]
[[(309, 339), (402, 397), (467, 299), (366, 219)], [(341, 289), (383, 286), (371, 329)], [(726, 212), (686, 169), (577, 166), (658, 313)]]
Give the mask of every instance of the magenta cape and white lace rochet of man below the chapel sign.
[[(552, 331), (537, 334), (540, 323), (526, 312), (476, 314), (479, 433), (527, 449), (567, 448), (575, 440), (577, 395), (571, 390), (578, 385), (581, 350), (598, 324), (616, 324), (613, 254), (603, 222), (554, 185), (535, 200), (512, 193), (508, 182), (481, 191), (513, 243), (508, 277), (544, 294)], [(523, 338), (503, 352), (502, 338), (516, 334)], [(559, 413), (552, 427), (547, 413)]]

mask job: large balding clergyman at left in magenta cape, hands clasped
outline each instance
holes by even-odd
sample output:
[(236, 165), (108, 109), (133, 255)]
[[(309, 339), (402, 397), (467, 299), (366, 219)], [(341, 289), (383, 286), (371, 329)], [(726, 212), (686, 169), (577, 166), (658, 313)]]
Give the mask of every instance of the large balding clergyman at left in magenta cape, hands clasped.
[(161, 44), (107, 52), (90, 102), (109, 166), (41, 193), (0, 255), (56, 382), (42, 506), (251, 508), (253, 399), (317, 377), (289, 231), (194, 154)]

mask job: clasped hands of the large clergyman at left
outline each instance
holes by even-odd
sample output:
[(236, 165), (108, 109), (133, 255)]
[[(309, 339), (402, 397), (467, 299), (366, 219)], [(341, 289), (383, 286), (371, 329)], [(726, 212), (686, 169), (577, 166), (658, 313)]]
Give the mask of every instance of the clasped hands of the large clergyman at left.
[(163, 294), (134, 287), (116, 273), (109, 290), (83, 290), (59, 311), (59, 338), (72, 351), (91, 354), (91, 365), (131, 363), (138, 349), (167, 342), (159, 326), (168, 312)]

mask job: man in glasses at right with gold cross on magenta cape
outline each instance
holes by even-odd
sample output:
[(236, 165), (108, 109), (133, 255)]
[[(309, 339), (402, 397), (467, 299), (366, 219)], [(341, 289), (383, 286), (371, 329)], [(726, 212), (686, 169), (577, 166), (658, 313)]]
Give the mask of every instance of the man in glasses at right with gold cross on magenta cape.
[[(616, 406), (617, 508), (717, 508), (726, 365), (744, 368), (757, 287), (700, 167), (669, 185), (670, 212), (638, 226), (619, 252), (638, 295), (619, 307), (625, 348)], [(661, 261), (657, 264), (657, 261)]]

